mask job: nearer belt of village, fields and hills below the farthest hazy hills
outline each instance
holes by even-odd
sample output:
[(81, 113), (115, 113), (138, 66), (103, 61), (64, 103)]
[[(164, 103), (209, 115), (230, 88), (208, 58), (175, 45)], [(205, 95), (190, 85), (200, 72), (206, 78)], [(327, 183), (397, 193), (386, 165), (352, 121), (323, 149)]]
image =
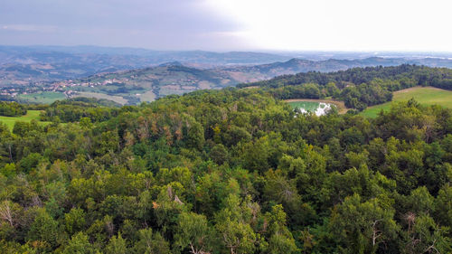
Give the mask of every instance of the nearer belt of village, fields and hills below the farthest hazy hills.
[[(221, 89), (300, 72), (345, 71), (350, 68), (394, 66), (400, 63), (452, 67), (452, 61), (444, 59), (410, 60), (377, 57), (322, 61), (291, 59), (259, 65), (219, 65), (214, 68), (202, 68), (202, 64), (173, 61), (143, 69), (127, 71), (114, 71), (115, 69), (112, 69), (113, 72), (103, 70), (82, 78), (54, 82), (33, 83), (32, 80), (29, 80), (32, 82), (29, 85), (14, 84), (14, 86), (11, 86), (10, 84), (10, 86), (0, 89), (0, 93), (31, 103), (50, 103), (55, 99), (89, 96), (110, 98), (121, 104), (134, 105), (171, 94), (182, 95), (197, 89)], [(22, 80), (21, 82), (25, 81)], [(59, 95), (45, 96), (48, 94), (47, 92)]]

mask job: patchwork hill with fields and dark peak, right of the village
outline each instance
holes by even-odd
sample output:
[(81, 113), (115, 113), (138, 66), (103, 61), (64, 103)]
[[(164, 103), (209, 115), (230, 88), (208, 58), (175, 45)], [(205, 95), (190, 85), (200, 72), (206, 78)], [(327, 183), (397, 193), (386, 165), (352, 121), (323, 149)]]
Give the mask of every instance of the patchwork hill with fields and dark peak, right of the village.
[(101, 73), (78, 80), (53, 84), (66, 90), (123, 97), (129, 103), (152, 101), (170, 94), (184, 94), (196, 89), (221, 89), (240, 82), (261, 80), (248, 73), (217, 69), (196, 69), (180, 62), (170, 62), (157, 67)]

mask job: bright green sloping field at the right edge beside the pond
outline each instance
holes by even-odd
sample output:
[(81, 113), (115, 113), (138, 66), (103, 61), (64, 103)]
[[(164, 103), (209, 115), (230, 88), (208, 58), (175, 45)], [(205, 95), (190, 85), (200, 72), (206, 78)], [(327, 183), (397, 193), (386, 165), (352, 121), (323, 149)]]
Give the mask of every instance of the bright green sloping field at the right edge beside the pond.
[(361, 114), (368, 118), (376, 118), (381, 109), (390, 110), (392, 102), (406, 101), (411, 98), (416, 99), (422, 105), (436, 104), (445, 108), (452, 108), (452, 91), (432, 87), (415, 87), (396, 91), (391, 102), (366, 108)]

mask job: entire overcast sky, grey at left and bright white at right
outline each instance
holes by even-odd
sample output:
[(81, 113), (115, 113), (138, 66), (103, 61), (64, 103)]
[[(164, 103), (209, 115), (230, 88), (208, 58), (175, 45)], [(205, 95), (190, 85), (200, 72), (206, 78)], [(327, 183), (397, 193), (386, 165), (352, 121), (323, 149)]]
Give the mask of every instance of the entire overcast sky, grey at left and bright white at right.
[(0, 44), (452, 52), (450, 0), (0, 0)]

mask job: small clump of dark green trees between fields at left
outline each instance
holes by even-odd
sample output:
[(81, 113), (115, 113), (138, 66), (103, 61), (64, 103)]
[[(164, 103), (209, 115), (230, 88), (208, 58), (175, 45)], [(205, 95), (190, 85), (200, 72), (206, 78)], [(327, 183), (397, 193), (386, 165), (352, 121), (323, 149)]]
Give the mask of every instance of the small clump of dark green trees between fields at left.
[(78, 122), (81, 118), (89, 118), (90, 122), (101, 122), (118, 116), (118, 106), (119, 104), (107, 99), (57, 100), (44, 109), (41, 120), (69, 123)]

